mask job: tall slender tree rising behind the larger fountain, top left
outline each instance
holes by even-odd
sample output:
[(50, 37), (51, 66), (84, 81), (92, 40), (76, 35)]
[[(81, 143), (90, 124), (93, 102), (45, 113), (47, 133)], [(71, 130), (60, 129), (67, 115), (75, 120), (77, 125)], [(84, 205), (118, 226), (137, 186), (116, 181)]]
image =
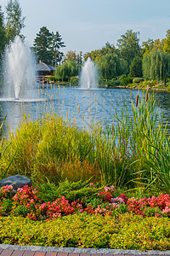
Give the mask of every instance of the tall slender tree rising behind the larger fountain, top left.
[(26, 17), (22, 17), (22, 9), (20, 8), (20, 3), (18, 0), (10, 0), (6, 6), (6, 14), (7, 14), (7, 24), (6, 24), (6, 38), (7, 43), (9, 44), (11, 41), (14, 41), (16, 36), (20, 36), (20, 38), (24, 38), (23, 35), (20, 34), (21, 29), (25, 27), (25, 19)]

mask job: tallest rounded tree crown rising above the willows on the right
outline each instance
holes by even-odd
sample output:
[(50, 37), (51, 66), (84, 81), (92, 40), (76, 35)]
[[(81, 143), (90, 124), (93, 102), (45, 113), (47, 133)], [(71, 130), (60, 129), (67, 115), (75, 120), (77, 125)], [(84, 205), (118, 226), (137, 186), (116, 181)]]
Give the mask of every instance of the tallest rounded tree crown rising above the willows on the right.
[(127, 30), (127, 32), (117, 40), (117, 46), (122, 58), (127, 61), (128, 65), (130, 65), (135, 56), (141, 55), (139, 32), (133, 32), (132, 29)]

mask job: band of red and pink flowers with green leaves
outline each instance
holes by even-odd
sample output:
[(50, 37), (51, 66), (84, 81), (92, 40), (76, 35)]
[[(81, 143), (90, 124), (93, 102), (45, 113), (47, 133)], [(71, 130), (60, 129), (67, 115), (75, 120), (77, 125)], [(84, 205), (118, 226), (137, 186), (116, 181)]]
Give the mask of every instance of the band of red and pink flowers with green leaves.
[[(90, 183), (92, 188), (94, 183)], [(95, 188), (93, 188), (95, 189)], [(65, 215), (87, 212), (88, 214), (115, 215), (124, 212), (132, 212), (143, 217), (170, 217), (170, 196), (159, 195), (149, 198), (127, 198), (121, 194), (116, 196), (116, 189), (105, 187), (99, 191), (92, 203), (86, 203), (77, 199), (68, 201), (65, 196), (55, 201), (42, 201), (38, 196), (38, 188), (25, 186), (14, 192), (12, 186), (4, 186), (0, 190), (0, 215), (22, 216), (32, 220), (52, 220)]]

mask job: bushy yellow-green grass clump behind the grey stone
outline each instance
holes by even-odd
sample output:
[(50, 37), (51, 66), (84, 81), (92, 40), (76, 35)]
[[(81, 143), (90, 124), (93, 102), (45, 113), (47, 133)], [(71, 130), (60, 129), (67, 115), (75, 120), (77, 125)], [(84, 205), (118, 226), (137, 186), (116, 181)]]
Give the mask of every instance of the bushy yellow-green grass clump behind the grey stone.
[(71, 181), (101, 178), (91, 135), (61, 118), (48, 115), (36, 121), (25, 118), (8, 140), (3, 142), (4, 148), (8, 143), (11, 145), (3, 154), (1, 173), (18, 148), (8, 175), (48, 178), (55, 183), (66, 177)]

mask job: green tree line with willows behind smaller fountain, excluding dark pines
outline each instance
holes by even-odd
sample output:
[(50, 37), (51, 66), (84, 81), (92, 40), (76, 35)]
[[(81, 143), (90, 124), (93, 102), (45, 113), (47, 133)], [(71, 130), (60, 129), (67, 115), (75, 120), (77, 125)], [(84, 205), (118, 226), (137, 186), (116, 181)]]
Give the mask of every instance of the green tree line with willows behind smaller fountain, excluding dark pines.
[(88, 57), (99, 67), (103, 81), (116, 82), (121, 78), (121, 82), (123, 80), (128, 83), (133, 78), (144, 78), (164, 81), (166, 84), (166, 79), (170, 78), (170, 30), (167, 31), (166, 38), (149, 38), (140, 45), (139, 32), (130, 29), (117, 40), (116, 46), (107, 42), (101, 49), (84, 55), (70, 51), (65, 55), (63, 64), (56, 68), (55, 76), (58, 79), (68, 79), (78, 75), (82, 62)]

